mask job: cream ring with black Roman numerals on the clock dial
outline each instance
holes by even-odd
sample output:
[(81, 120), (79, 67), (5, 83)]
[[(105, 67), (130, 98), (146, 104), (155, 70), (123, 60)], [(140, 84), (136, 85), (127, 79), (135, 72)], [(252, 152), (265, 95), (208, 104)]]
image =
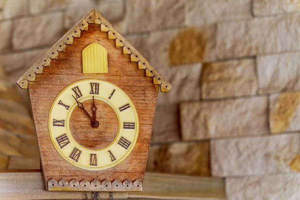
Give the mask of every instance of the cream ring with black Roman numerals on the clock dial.
[[(107, 103), (118, 120), (114, 140), (100, 149), (80, 145), (70, 131), (70, 116), (77, 107), (76, 100), (84, 104), (92, 98)], [(62, 89), (54, 99), (48, 117), (49, 135), (57, 152), (69, 163), (88, 170), (110, 168), (124, 160), (135, 145), (138, 127), (137, 112), (128, 95), (118, 86), (94, 78), (73, 82)]]

